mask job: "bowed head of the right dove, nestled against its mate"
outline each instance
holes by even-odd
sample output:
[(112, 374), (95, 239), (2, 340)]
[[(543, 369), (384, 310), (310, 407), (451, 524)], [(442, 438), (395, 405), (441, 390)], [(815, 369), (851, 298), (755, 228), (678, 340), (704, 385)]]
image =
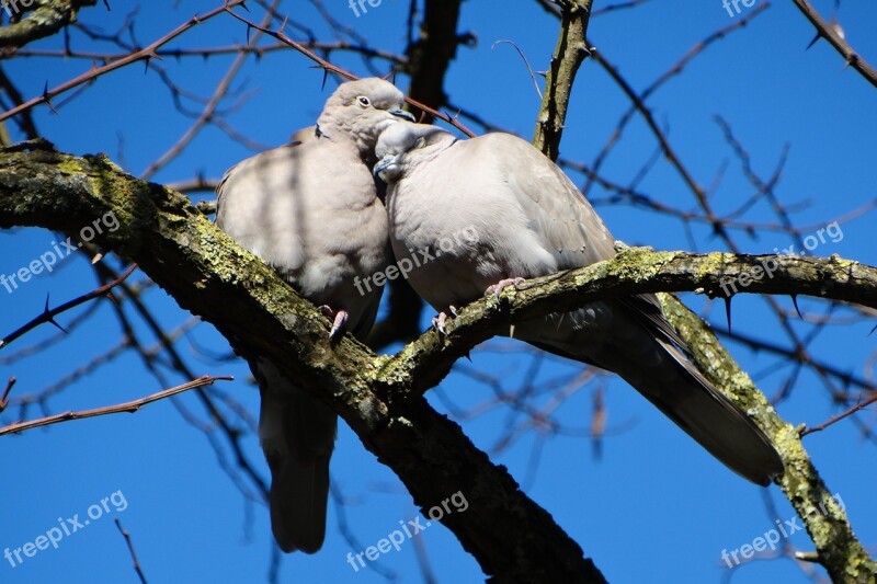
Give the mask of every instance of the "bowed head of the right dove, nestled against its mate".
[(430, 160), (456, 138), (437, 126), (399, 122), (380, 133), (375, 147), (374, 173), (387, 184), (397, 182), (414, 165)]

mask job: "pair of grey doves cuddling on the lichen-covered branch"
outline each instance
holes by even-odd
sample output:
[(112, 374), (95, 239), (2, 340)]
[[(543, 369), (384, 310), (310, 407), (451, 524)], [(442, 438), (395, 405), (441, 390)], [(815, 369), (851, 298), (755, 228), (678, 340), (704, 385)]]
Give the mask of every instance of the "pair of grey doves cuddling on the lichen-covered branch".
[[(500, 133), (462, 140), (410, 122), (402, 105), (381, 79), (343, 83), (316, 126), (231, 168), (217, 190), (219, 227), (332, 318), (332, 336), (368, 333), (383, 288), (357, 284), (389, 265), (388, 237), (399, 261), (435, 251), (408, 280), (441, 311), (440, 328), (445, 310), (486, 290), (615, 255), (591, 205), (532, 145)], [(437, 252), (446, 241), (454, 245)], [(783, 473), (766, 436), (692, 365), (652, 295), (517, 322), (514, 335), (618, 374), (750, 481), (766, 486)], [(326, 535), (337, 415), (269, 360), (249, 365), (274, 538), (286, 552), (314, 553)]]

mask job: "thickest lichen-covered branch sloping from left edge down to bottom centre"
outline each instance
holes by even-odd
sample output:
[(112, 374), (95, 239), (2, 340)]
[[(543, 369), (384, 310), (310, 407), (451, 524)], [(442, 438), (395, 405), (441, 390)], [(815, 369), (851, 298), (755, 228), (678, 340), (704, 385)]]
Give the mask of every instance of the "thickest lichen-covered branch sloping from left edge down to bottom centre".
[[(0, 228), (70, 234), (113, 213), (119, 228), (95, 243), (126, 257), (244, 355), (264, 355), (332, 404), (421, 508), (462, 491), (466, 513), (443, 523), (502, 582), (603, 582), (581, 548), (422, 396), (395, 391), (386, 358), (352, 337), (337, 346), (329, 321), (269, 266), (236, 245), (182, 195), (125, 174), (104, 157), (0, 153)], [(229, 307), (235, 307), (229, 310)], [(394, 388), (394, 393), (389, 389)]]

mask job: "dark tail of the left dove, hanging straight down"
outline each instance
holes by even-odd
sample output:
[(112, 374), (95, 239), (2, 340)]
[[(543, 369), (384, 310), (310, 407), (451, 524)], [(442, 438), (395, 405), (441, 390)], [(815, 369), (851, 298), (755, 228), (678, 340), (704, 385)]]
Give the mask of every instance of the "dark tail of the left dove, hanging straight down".
[(283, 551), (315, 553), (326, 537), (338, 416), (266, 360), (260, 359), (257, 379), (259, 437), (271, 468), (271, 529)]

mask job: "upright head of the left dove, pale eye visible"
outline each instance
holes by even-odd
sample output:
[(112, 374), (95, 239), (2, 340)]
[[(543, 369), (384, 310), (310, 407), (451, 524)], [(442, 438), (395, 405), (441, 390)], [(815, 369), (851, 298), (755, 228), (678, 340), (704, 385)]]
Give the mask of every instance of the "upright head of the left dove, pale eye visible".
[(363, 160), (373, 159), (375, 141), (381, 130), (399, 119), (414, 119), (402, 105), (402, 92), (389, 81), (377, 77), (348, 81), (326, 102), (317, 127), (330, 139), (349, 136)]

